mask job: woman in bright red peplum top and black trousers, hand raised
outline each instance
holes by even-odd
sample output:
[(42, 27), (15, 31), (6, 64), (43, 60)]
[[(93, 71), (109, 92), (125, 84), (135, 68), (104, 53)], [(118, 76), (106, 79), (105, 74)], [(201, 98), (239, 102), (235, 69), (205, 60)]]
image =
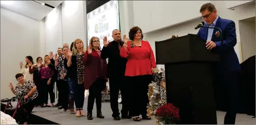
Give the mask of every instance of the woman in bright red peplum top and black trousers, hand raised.
[(128, 84), (132, 87), (131, 115), (134, 121), (140, 121), (140, 114), (143, 119), (151, 119), (147, 115), (148, 85), (151, 82), (151, 75), (156, 68), (154, 53), (148, 41), (144, 41), (142, 30), (133, 27), (129, 31), (128, 41), (124, 35), (124, 45), (120, 51), (122, 57), (128, 59), (125, 76)]

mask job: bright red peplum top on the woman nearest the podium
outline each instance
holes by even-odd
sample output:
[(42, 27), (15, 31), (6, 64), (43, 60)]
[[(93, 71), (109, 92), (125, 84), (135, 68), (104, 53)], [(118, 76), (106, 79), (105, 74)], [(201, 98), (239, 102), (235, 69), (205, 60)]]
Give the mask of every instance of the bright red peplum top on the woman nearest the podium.
[(154, 53), (148, 41), (143, 41), (141, 47), (131, 47), (127, 43), (127, 51), (123, 46), (120, 55), (127, 58), (125, 76), (151, 75), (151, 68), (156, 68)]

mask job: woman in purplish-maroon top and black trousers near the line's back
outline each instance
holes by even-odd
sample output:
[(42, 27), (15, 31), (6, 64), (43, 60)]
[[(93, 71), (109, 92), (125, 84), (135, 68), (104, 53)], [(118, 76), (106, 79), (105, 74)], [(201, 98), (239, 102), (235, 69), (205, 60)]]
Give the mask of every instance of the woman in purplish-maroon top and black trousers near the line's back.
[[(45, 64), (43, 64), (43, 67), (39, 70), (41, 74), (41, 82), (43, 86), (43, 93), (44, 93), (44, 105), (43, 107), (52, 107), (53, 103), (55, 101), (55, 95), (53, 92), (54, 89), (54, 80), (52, 80), (52, 77), (54, 76), (54, 71), (49, 67), (51, 64), (50, 58), (48, 55), (45, 55)], [(50, 95), (50, 106), (48, 106), (48, 93)]]

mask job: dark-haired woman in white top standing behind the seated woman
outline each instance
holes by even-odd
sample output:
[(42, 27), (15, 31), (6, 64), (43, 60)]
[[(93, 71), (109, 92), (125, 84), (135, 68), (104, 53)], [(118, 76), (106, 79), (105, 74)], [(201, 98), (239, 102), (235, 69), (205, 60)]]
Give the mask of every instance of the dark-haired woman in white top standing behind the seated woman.
[(29, 66), (33, 66), (34, 65), (34, 61), (32, 56), (26, 56), (26, 65), (23, 68), (23, 63), (21, 61), (21, 63), (19, 63), (19, 67), (21, 68), (19, 73), (22, 73), (24, 75), (24, 78), (27, 80), (31, 80), (33, 81), (33, 74), (29, 73)]

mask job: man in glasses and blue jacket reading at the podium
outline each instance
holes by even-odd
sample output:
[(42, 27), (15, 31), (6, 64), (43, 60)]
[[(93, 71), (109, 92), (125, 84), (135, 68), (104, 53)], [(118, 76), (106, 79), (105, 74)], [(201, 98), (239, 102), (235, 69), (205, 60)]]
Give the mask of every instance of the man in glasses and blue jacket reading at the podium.
[(206, 22), (204, 27), (216, 27), (218, 29), (200, 28), (198, 36), (206, 40), (206, 48), (214, 53), (219, 53), (221, 59), (214, 65), (214, 84), (216, 107), (221, 101), (227, 104), (227, 113), (224, 124), (235, 124), (236, 104), (238, 98), (238, 71), (241, 69), (238, 56), (234, 51), (237, 44), (237, 35), (235, 33), (235, 24), (232, 20), (224, 19), (218, 16), (213, 4), (204, 4), (200, 13), (202, 19)]

